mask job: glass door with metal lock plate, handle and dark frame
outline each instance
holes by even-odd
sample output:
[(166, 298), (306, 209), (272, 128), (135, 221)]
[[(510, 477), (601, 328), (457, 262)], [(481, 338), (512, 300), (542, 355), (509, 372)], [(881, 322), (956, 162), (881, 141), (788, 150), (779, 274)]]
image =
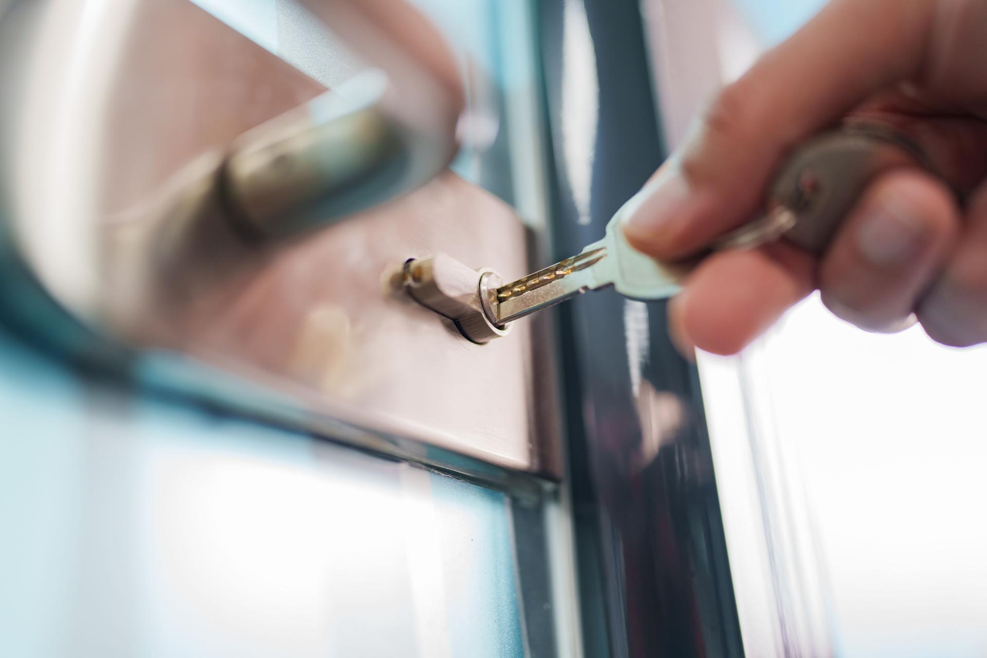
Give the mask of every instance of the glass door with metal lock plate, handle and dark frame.
[(5, 653), (743, 653), (663, 305), (477, 344), (402, 288), (599, 238), (664, 152), (637, 3), (2, 16)]

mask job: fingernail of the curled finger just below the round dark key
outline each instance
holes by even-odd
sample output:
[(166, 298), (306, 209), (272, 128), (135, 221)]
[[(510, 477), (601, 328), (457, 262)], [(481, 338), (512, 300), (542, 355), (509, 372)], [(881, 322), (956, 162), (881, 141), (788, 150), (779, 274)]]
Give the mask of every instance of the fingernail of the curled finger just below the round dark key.
[(928, 225), (907, 201), (885, 198), (861, 225), (857, 246), (873, 265), (897, 267), (918, 256), (928, 237)]

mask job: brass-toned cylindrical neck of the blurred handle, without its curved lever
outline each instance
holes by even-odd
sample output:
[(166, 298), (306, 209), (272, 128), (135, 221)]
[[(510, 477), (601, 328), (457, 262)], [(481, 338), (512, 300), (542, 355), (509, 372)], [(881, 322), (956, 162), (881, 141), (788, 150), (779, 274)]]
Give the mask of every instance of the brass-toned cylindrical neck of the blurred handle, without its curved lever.
[(442, 172), (452, 133), (388, 113), (389, 80), (370, 69), (248, 131), (218, 172), (230, 220), (251, 238), (304, 233), (394, 200)]

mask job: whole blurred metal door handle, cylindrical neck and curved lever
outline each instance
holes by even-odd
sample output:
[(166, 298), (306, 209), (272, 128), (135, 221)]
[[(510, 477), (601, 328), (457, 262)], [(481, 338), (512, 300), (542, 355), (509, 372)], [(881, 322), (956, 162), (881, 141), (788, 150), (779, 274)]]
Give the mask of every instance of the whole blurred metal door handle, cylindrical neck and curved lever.
[(249, 130), (210, 172), (229, 219), (253, 239), (297, 235), (399, 198), (459, 149), (464, 91), (424, 17), (405, 2), (305, 4), (373, 68)]

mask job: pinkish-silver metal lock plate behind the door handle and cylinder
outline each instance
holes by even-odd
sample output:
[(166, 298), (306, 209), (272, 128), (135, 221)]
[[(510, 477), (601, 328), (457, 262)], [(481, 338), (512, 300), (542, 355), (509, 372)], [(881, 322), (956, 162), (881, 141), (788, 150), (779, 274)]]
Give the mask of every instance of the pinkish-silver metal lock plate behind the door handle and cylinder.
[[(323, 86), (187, 0), (24, 1), (0, 33), (4, 245), (141, 377), (173, 373), (224, 408), (441, 468), (561, 475), (541, 328), (476, 345), (394, 285), (410, 257), (436, 253), (527, 270), (506, 203), (445, 171), (304, 240), (244, 240), (218, 220), (213, 177), (241, 135)], [(421, 72), (411, 61), (388, 69), (402, 89)], [(445, 125), (427, 111), (444, 94), (407, 109)]]

